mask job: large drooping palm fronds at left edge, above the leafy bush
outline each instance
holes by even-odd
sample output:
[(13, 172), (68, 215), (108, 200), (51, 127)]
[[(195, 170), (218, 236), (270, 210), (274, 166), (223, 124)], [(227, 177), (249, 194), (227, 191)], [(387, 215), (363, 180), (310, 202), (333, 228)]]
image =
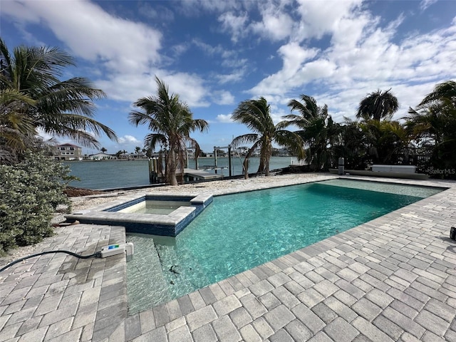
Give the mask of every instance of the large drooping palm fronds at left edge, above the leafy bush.
[[(11, 54), (0, 38), (1, 115), (5, 106), (10, 113), (24, 115), (27, 123), (20, 124), (18, 130), (32, 137), (41, 128), (44, 133), (70, 137), (88, 147), (99, 146), (91, 133), (98, 136), (103, 132), (116, 140), (113, 130), (93, 119), (92, 101), (104, 98), (105, 93), (93, 88), (86, 78), (60, 81), (63, 69), (74, 65), (73, 58), (58, 48), (19, 46)], [(5, 93), (22, 98), (5, 102)], [(3, 135), (0, 138), (1, 145), (8, 145)]]

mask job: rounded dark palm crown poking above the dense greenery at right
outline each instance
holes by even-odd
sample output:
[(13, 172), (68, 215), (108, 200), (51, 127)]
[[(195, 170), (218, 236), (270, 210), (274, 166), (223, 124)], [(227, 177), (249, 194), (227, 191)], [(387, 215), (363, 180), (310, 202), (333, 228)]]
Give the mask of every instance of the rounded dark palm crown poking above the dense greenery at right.
[(363, 118), (365, 120), (371, 118), (377, 121), (383, 118), (393, 118), (393, 114), (399, 109), (399, 103), (398, 98), (390, 93), (390, 90), (383, 92), (377, 90), (368, 94), (366, 98), (363, 98), (359, 103), (356, 118)]

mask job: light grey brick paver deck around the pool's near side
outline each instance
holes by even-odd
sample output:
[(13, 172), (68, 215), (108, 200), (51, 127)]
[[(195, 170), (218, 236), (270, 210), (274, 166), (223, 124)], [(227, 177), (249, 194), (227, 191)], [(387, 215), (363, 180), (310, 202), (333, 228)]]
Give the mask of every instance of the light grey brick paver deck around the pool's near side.
[[(456, 342), (456, 183), (383, 181), (450, 189), (133, 316), (125, 257), (28, 259), (0, 274), (0, 341)], [(125, 242), (57, 233), (34, 252)]]

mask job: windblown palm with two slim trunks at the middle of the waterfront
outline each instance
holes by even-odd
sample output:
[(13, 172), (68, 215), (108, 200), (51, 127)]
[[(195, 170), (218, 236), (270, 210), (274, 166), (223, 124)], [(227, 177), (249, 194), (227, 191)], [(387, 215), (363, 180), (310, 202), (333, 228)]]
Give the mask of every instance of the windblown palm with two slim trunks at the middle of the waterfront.
[[(294, 132), (284, 130), (284, 123), (274, 125), (271, 118), (271, 108), (266, 99), (261, 97), (259, 100), (245, 100), (239, 103), (232, 114), (232, 120), (244, 123), (254, 133), (239, 135), (234, 138), (232, 145), (237, 147), (246, 142), (253, 143), (245, 156), (244, 166), (247, 166), (247, 160), (254, 150), (259, 149), (259, 167), (257, 173), (263, 173), (269, 176), (269, 160), (272, 155), (272, 143), (289, 147), (299, 159), (304, 158), (304, 149), (301, 137)], [(247, 167), (244, 167), (246, 178), (249, 173)]]

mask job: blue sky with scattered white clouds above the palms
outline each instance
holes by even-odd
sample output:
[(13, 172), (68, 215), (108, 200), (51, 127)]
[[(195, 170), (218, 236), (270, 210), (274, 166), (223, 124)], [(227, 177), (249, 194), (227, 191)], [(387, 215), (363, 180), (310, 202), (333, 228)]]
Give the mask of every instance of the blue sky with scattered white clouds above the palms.
[(0, 34), (10, 50), (58, 46), (76, 58), (65, 77), (108, 94), (95, 116), (120, 138), (99, 137), (108, 153), (143, 146), (147, 128), (128, 113), (155, 94), (155, 76), (209, 122), (192, 135), (206, 152), (249, 132), (230, 120), (242, 100), (264, 96), (277, 123), (290, 99), (311, 95), (341, 123), (391, 88), (402, 118), (456, 79), (455, 1), (2, 0)]

